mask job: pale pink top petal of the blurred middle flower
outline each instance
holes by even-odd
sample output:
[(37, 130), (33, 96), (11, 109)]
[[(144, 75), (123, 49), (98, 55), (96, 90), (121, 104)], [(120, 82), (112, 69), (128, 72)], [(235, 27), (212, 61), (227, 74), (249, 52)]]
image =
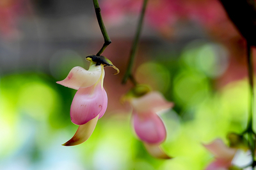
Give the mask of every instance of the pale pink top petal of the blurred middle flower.
[(173, 103), (166, 101), (163, 95), (157, 91), (152, 91), (143, 97), (132, 99), (131, 105), (138, 113), (148, 111), (158, 112), (162, 109), (173, 107)]

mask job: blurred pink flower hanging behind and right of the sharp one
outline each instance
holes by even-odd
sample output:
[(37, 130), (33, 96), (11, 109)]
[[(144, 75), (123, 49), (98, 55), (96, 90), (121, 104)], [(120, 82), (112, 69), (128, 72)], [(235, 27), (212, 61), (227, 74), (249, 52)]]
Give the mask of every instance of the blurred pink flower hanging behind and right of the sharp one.
[(166, 139), (166, 128), (156, 112), (169, 109), (173, 103), (167, 102), (157, 91), (132, 98), (130, 103), (133, 107), (134, 130), (145, 144), (148, 153), (156, 158), (170, 158), (159, 146)]

